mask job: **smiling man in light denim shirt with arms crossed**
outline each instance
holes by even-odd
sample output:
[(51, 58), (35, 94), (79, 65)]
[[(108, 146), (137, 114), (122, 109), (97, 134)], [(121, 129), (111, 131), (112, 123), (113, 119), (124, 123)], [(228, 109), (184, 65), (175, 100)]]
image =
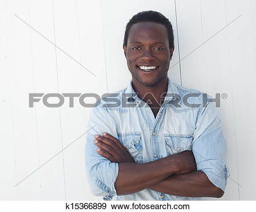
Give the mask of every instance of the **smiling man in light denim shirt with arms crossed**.
[(112, 95), (121, 104), (101, 100), (90, 113), (85, 161), (92, 193), (104, 200), (221, 197), (228, 177), (221, 121), (209, 96), (167, 77), (171, 23), (159, 12), (139, 12), (127, 23), (123, 50), (132, 79)]

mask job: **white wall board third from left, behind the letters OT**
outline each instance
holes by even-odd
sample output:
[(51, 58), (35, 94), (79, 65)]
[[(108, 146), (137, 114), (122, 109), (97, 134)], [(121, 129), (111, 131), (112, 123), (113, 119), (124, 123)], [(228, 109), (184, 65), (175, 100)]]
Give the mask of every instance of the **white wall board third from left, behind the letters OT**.
[[(47, 40), (54, 42), (52, 1), (30, 1), (30, 20), (31, 26), (44, 36), (31, 31), (34, 91), (56, 93), (55, 46)], [(35, 111), (41, 166), (61, 150), (60, 114), (59, 108), (48, 108), (42, 100), (35, 103)], [(40, 168), (40, 174), (42, 200), (63, 200), (65, 190), (61, 154)]]

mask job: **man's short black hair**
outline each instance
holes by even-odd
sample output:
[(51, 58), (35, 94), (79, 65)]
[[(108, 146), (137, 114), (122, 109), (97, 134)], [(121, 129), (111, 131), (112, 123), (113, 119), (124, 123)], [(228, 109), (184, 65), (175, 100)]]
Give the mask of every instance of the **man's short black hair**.
[(129, 20), (129, 22), (126, 24), (125, 38), (123, 39), (124, 46), (127, 46), (127, 40), (131, 26), (139, 22), (155, 22), (163, 24), (163, 26), (165, 26), (167, 29), (169, 47), (170, 49), (174, 47), (174, 31), (172, 30), (172, 24), (170, 20), (167, 19), (166, 16), (164, 16), (162, 13), (153, 10), (138, 12)]

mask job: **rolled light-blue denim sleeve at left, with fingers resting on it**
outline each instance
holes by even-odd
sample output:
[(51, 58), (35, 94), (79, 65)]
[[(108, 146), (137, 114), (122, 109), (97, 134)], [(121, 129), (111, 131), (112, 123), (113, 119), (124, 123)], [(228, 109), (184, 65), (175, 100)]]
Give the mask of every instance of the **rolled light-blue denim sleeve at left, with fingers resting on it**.
[(100, 104), (90, 112), (87, 130), (85, 167), (90, 191), (94, 196), (105, 196), (104, 200), (112, 200), (117, 194), (114, 184), (118, 175), (118, 163), (112, 163), (98, 154), (94, 135), (107, 132), (118, 138), (114, 118)]

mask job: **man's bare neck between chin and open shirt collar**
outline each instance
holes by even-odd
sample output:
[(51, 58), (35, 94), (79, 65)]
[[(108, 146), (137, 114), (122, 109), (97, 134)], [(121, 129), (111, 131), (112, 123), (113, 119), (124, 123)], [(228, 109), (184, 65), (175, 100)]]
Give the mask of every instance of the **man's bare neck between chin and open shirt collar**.
[(168, 90), (167, 76), (160, 80), (154, 86), (144, 86), (137, 80), (133, 79), (133, 89), (138, 97), (152, 108), (160, 108), (166, 96), (164, 93)]

